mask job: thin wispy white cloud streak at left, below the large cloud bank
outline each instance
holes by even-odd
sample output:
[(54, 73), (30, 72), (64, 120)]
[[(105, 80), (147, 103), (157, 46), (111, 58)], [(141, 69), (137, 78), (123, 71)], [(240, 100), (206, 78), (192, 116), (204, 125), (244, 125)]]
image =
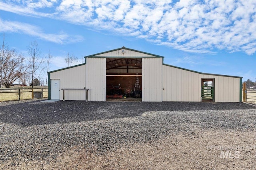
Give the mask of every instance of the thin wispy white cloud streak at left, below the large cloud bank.
[(18, 21), (5, 21), (0, 19), (1, 32), (16, 32), (38, 37), (53, 43), (64, 44), (82, 41), (80, 35), (69, 35), (67, 33), (44, 33), (39, 27)]

